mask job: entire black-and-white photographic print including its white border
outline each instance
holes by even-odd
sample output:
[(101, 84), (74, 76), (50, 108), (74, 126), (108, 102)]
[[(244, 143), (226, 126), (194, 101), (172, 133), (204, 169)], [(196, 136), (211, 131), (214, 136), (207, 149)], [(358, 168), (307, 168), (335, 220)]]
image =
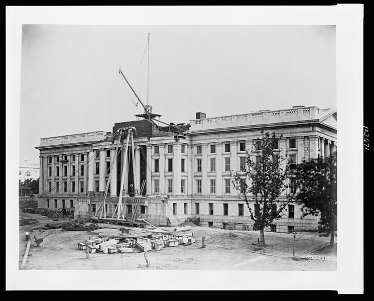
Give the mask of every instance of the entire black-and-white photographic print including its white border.
[(362, 5), (7, 9), (10, 290), (362, 292)]

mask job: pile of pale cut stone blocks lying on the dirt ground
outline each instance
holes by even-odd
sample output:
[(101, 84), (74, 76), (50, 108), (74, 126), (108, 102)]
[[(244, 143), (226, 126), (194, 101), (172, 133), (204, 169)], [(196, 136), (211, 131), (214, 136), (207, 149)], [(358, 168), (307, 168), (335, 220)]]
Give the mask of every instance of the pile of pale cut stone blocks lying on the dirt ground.
[(110, 237), (91, 236), (85, 242), (79, 242), (78, 249), (88, 250), (90, 253), (132, 253), (134, 248), (141, 252), (159, 251), (166, 247), (188, 246), (195, 242), (193, 233), (176, 234), (155, 229)]

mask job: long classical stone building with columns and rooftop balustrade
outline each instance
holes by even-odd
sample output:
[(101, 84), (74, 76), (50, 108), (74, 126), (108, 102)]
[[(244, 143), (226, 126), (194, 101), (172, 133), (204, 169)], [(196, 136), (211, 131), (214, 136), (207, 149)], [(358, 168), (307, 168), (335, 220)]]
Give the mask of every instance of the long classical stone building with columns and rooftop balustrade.
[[(116, 123), (112, 132), (41, 139), (36, 147), (40, 151), (39, 207), (74, 207), (75, 217), (93, 217), (111, 177), (105, 212), (112, 217), (124, 162), (123, 149), (115, 156), (116, 135), (128, 127), (135, 128), (134, 160), (131, 152), (128, 158), (134, 172), (124, 178), (124, 216), (130, 219), (143, 214), (142, 218), (154, 225), (166, 225), (167, 221), (178, 225), (194, 217), (206, 227), (222, 227), (229, 221), (253, 224), (240, 193), (232, 187), (231, 171), (245, 168), (247, 151), (262, 130), (283, 135), (278, 151), (292, 166), (303, 159), (327, 157), (337, 147), (336, 111), (316, 107), (214, 118), (197, 113), (189, 124), (164, 127), (146, 119)], [(296, 188), (291, 185), (290, 189)], [(139, 209), (134, 212), (138, 200)], [(286, 200), (284, 195), (282, 200)], [(297, 204), (290, 205), (275, 224), (266, 230), (317, 229), (316, 218), (302, 219)]]

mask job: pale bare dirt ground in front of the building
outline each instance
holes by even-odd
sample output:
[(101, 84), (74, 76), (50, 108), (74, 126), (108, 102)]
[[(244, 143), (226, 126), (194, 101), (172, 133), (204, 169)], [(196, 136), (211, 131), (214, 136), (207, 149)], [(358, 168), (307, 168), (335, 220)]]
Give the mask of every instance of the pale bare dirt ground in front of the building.
[[(27, 245), (25, 232), (51, 223), (53, 219), (38, 214), (21, 214), (25, 218), (38, 219), (34, 225), (20, 226), (19, 266)], [(260, 234), (258, 231), (230, 231), (219, 228), (192, 226), (190, 232), (196, 243), (189, 246), (167, 247), (160, 251), (148, 251), (150, 266), (146, 266), (144, 252), (134, 248), (133, 253), (86, 253), (78, 248), (90, 236), (119, 234), (119, 226), (90, 231), (33, 230), (31, 237), (43, 238), (40, 247), (31, 244), (25, 264), (26, 270), (253, 270), (253, 271), (336, 271), (336, 247), (329, 245), (329, 237), (316, 233), (298, 233), (294, 239), (287, 233), (265, 233), (266, 248), (255, 251)], [(131, 232), (144, 229), (129, 228)], [(167, 229), (167, 228), (163, 228)], [(170, 230), (170, 228), (169, 228)], [(41, 232), (44, 231), (44, 232)], [(202, 237), (205, 247), (202, 248)], [(32, 239), (34, 242), (34, 239)], [(336, 245), (336, 244), (335, 244)], [(319, 250), (321, 249), (321, 250)], [(317, 251), (319, 250), (319, 251)]]

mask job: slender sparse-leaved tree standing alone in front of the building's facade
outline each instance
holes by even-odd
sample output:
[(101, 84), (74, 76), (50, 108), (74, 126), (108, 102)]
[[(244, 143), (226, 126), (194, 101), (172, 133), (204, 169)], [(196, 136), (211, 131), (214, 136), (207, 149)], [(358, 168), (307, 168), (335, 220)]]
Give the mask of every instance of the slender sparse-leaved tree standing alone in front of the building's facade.
[[(261, 135), (262, 138), (255, 142), (252, 150), (247, 151), (245, 175), (243, 172), (232, 172), (231, 181), (243, 195), (254, 228), (260, 230), (260, 244), (265, 246), (264, 228), (282, 217), (283, 210), (292, 202), (292, 196), (287, 195), (285, 202), (279, 202), (279, 196), (289, 187), (289, 163), (284, 162), (286, 158), (274, 150), (278, 149), (282, 136), (264, 131), (261, 131)], [(251, 199), (254, 200), (255, 210), (250, 206)]]

